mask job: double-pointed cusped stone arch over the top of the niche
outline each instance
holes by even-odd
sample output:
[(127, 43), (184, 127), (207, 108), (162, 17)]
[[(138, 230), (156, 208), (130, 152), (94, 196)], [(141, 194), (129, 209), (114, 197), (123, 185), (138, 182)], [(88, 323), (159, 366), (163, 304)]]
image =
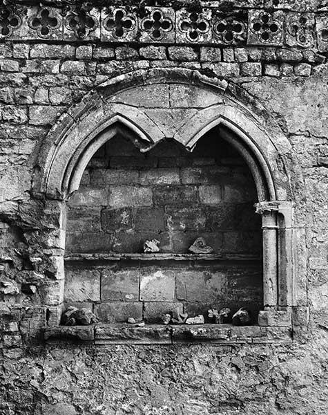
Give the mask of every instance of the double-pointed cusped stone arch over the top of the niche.
[[(171, 120), (170, 138), (192, 151), (204, 133), (218, 127), (220, 135), (238, 149), (248, 163), (259, 201), (291, 199), (288, 158), (285, 157), (290, 143), (269, 114), (263, 116), (260, 104), (256, 108), (252, 104), (247, 107), (247, 102), (241, 102), (240, 96), (236, 96), (235, 86), (229, 88), (225, 81), (181, 68), (120, 75), (101, 84), (97, 91), (70, 108), (52, 127), (41, 146), (33, 190), (52, 199), (65, 199), (79, 187), (81, 175), (93, 154), (117, 133), (130, 136), (141, 151), (148, 151), (168, 138), (157, 119), (142, 105), (137, 107), (116, 98), (119, 91), (133, 91), (137, 86), (146, 89), (154, 84), (194, 86), (220, 95), (220, 100), (210, 102), (208, 107), (201, 105), (193, 111), (182, 111), (185, 115), (179, 125)], [(253, 98), (249, 102), (253, 102)], [(157, 109), (162, 111), (161, 117), (167, 114), (169, 105), (169, 102), (164, 103), (163, 109)]]

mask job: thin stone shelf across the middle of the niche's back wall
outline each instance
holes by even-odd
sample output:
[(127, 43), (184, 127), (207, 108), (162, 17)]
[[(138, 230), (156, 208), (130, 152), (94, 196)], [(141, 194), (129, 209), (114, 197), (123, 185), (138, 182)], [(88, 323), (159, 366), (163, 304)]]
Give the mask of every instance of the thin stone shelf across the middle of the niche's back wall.
[(95, 254), (73, 254), (66, 255), (65, 261), (261, 261), (262, 258), (254, 255), (218, 255), (218, 254), (175, 254), (175, 253), (95, 253)]

